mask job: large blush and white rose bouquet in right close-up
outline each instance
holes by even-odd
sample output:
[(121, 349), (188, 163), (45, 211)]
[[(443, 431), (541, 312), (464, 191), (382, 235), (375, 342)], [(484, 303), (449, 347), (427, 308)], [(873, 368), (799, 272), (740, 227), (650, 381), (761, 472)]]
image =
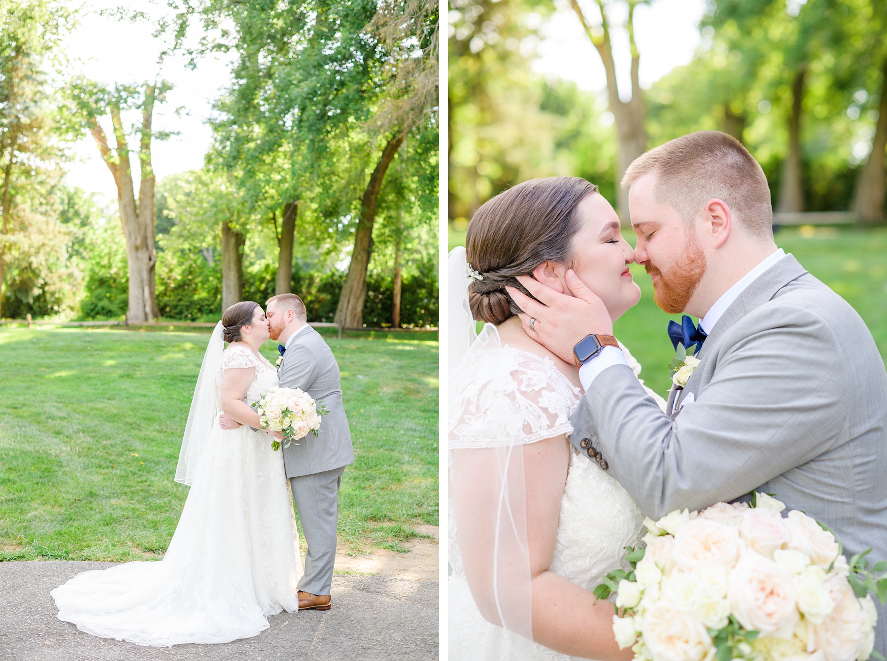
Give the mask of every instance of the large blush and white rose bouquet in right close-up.
[(867, 593), (887, 600), (887, 575), (874, 575), (887, 562), (869, 570), (866, 551), (847, 563), (825, 526), (784, 508), (753, 493), (751, 507), (648, 518), (646, 549), (628, 547), (631, 571), (594, 590), (617, 593), (620, 649), (636, 661), (865, 661), (877, 619)]

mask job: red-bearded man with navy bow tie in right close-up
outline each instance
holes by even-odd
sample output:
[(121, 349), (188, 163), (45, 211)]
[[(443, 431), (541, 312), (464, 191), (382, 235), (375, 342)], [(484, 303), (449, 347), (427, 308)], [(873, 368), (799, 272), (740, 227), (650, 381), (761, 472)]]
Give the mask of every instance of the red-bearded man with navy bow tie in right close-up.
[[(887, 560), (883, 359), (856, 311), (776, 247), (757, 161), (701, 131), (641, 155), (623, 185), (655, 303), (701, 319), (670, 329), (699, 363), (663, 413), (622, 351), (601, 349), (612, 322), (575, 273), (574, 297), (519, 278), (538, 299), (508, 289), (524, 329), (580, 366), (570, 442), (654, 519), (774, 492), (835, 531), (847, 557), (870, 547)], [(875, 649), (887, 654), (878, 611)]]

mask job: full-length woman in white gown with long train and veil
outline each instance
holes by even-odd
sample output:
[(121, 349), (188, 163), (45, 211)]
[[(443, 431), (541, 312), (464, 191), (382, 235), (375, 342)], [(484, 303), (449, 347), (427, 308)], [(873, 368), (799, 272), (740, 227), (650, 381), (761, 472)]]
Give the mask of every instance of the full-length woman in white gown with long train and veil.
[[(84, 571), (51, 595), (59, 619), (86, 633), (170, 646), (258, 635), (299, 608), (293, 505), (271, 435), (249, 404), (278, 385), (259, 354), (269, 338), (258, 303), (224, 311), (209, 339), (184, 429), (176, 480), (191, 486), (161, 562)], [(224, 342), (229, 342), (224, 349)], [(218, 408), (243, 424), (216, 424)]]

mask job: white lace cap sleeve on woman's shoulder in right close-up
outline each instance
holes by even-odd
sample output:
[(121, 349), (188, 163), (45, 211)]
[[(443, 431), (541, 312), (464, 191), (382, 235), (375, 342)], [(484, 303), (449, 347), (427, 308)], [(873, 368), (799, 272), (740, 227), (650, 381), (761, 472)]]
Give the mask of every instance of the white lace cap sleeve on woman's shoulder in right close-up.
[(526, 445), (573, 431), (579, 390), (550, 358), (508, 346), (475, 352), (454, 385), (451, 449)]

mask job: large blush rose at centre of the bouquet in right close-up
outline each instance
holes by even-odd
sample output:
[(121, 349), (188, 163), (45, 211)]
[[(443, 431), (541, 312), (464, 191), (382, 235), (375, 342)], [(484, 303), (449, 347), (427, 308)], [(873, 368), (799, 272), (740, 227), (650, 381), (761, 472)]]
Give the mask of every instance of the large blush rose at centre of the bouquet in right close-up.
[(746, 629), (779, 638), (797, 622), (795, 585), (785, 567), (747, 551), (730, 575), (730, 610)]

